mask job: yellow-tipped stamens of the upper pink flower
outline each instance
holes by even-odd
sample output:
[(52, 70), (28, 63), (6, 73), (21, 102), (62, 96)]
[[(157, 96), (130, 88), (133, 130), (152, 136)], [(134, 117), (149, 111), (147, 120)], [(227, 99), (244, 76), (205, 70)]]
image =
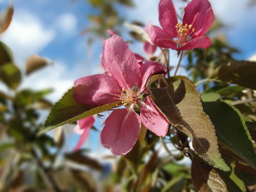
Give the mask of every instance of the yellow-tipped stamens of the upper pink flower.
[(182, 45), (187, 42), (189, 35), (195, 31), (195, 28), (191, 30), (192, 25), (188, 25), (188, 24), (182, 25), (182, 23), (178, 23), (175, 26), (175, 28), (178, 34), (177, 38), (178, 38), (179, 44), (182, 44)]

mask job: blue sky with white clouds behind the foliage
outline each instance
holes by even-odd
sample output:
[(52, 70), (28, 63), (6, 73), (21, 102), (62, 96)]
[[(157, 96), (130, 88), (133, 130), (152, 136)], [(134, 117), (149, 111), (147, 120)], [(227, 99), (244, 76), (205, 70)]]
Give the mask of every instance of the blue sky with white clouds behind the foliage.
[[(248, 7), (249, 0), (209, 0), (215, 16), (227, 27), (220, 31), (227, 36), (231, 46), (240, 49), (236, 59), (246, 60), (256, 54), (256, 6)], [(10, 0), (0, 0), (0, 10)], [(134, 0), (136, 7), (130, 9), (117, 6), (119, 14), (128, 19), (128, 22), (138, 20), (154, 25), (158, 21), (158, 0)], [(174, 0), (175, 6), (184, 5), (181, 0)], [(88, 27), (88, 14), (97, 13), (85, 0), (13, 0), (14, 15), (9, 29), (0, 36), (0, 40), (7, 43), (13, 50), (16, 64), (24, 71), (26, 59), (32, 54), (39, 54), (55, 61), (53, 67), (46, 67), (24, 78), (22, 88), (31, 87), (42, 89), (54, 87), (54, 94), (48, 98), (52, 102), (58, 101), (61, 96), (72, 87), (75, 79), (82, 76), (102, 72), (100, 68), (100, 54), (102, 40), (97, 40), (90, 49), (86, 45), (86, 36), (80, 32)], [(129, 40), (128, 29), (122, 28), (122, 36)], [(142, 44), (130, 46), (132, 51), (144, 54)], [(175, 51), (171, 53), (173, 63), (177, 62)], [(184, 71), (180, 70), (180, 74)], [(0, 85), (0, 89), (5, 89)], [(42, 117), (45, 118), (46, 115)], [(97, 121), (100, 125), (101, 121)], [(99, 134), (90, 135), (91, 145), (98, 143)], [(78, 136), (72, 136), (72, 144)], [(73, 145), (74, 146), (74, 145)], [(97, 148), (96, 147), (96, 148)], [(95, 148), (95, 147), (94, 147)], [(96, 150), (96, 148), (94, 150)]]

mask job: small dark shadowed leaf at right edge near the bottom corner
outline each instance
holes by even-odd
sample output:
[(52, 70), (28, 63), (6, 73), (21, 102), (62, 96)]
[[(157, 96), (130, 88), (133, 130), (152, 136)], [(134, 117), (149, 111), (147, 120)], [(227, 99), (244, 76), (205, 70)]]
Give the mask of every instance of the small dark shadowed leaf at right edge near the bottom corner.
[(243, 181), (245, 185), (255, 185), (256, 184), (256, 170), (248, 165), (242, 163), (235, 163), (237, 169), (243, 176)]

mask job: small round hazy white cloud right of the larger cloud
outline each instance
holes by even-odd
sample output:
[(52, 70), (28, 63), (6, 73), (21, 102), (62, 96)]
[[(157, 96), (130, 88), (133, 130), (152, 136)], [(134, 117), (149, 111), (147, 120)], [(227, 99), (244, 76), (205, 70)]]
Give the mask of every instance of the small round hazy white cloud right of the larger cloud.
[(63, 13), (57, 18), (56, 25), (61, 32), (74, 34), (76, 31), (77, 18), (71, 13)]

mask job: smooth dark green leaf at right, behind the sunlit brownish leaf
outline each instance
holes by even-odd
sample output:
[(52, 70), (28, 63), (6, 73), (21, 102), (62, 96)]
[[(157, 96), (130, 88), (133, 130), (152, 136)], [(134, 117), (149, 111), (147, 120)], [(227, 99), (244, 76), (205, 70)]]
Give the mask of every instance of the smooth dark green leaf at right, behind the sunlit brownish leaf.
[(204, 112), (213, 123), (218, 141), (229, 147), (252, 167), (256, 167), (256, 154), (252, 138), (242, 114), (235, 107), (225, 103), (219, 94), (201, 96)]

